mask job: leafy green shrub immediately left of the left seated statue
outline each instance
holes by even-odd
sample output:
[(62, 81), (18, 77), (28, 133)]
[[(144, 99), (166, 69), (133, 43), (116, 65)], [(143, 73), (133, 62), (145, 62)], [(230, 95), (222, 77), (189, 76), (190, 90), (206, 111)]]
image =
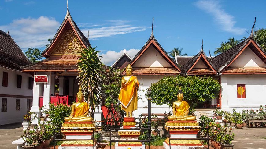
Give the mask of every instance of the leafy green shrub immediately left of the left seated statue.
[(54, 128), (61, 128), (62, 124), (64, 123), (64, 118), (69, 116), (71, 113), (71, 106), (68, 107), (67, 105), (58, 104), (54, 106), (54, 104), (50, 103), (50, 119), (51, 125)]

